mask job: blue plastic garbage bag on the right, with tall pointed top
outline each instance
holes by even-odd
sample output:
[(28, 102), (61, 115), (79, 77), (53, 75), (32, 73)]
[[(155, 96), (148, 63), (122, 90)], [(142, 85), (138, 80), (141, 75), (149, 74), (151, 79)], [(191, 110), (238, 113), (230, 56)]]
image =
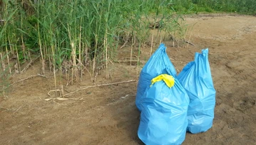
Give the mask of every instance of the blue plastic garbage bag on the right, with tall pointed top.
[(213, 126), (215, 89), (208, 62), (208, 49), (195, 53), (195, 60), (188, 63), (178, 75), (178, 80), (190, 97), (188, 106), (188, 131), (204, 132)]

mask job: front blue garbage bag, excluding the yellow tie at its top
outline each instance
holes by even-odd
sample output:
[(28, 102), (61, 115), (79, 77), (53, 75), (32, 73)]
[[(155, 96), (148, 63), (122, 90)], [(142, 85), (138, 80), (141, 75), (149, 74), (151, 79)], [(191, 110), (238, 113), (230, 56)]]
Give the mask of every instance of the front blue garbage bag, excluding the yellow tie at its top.
[(140, 100), (138, 137), (147, 145), (175, 145), (185, 140), (189, 97), (180, 82), (173, 80), (173, 87), (158, 80)]

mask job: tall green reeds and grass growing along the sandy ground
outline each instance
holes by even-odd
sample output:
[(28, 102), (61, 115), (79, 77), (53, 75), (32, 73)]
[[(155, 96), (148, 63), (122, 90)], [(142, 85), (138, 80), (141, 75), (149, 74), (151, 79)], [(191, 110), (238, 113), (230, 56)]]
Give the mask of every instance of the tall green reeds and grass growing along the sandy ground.
[[(256, 14), (255, 8), (255, 0), (0, 0), (0, 87), (36, 59), (41, 74), (53, 72), (55, 86), (83, 74), (93, 81), (101, 68), (109, 77), (108, 63), (123, 45), (131, 55), (138, 48), (139, 60), (140, 48), (163, 41), (162, 32), (183, 38), (186, 28), (178, 14)], [(158, 28), (156, 38), (150, 28)]]

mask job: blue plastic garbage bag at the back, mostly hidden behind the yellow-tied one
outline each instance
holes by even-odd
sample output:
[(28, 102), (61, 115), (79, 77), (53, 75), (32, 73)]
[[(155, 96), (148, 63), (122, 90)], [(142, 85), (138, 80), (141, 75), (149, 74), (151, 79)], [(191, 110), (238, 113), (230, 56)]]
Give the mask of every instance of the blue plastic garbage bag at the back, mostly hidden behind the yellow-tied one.
[[(167, 70), (170, 70), (169, 73)], [(137, 86), (137, 95), (135, 99), (135, 104), (140, 111), (140, 100), (143, 97), (145, 89), (150, 85), (150, 80), (152, 80), (153, 77), (164, 73), (176, 76), (175, 68), (173, 63), (170, 62), (170, 58), (166, 53), (165, 45), (160, 44), (158, 50), (155, 50), (155, 53), (150, 57), (140, 72)]]

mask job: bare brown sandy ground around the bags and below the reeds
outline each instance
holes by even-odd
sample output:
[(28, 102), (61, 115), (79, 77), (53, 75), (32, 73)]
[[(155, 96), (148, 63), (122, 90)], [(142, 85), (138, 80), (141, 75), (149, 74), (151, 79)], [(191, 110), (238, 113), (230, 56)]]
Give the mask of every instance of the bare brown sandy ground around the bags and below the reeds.
[[(187, 133), (183, 144), (256, 144), (256, 18), (203, 15), (186, 21), (193, 26), (187, 38), (195, 45), (176, 48), (167, 40), (168, 55), (179, 72), (195, 52), (209, 48), (217, 94), (213, 128)], [(150, 46), (143, 48), (145, 59), (149, 51)], [(129, 52), (122, 48), (120, 57), (129, 58)], [(103, 72), (93, 84), (86, 74), (82, 82), (65, 86), (65, 93), (137, 79), (135, 65), (115, 63), (110, 70), (112, 79), (106, 80)], [(11, 81), (38, 73), (39, 62)], [(88, 88), (69, 96), (83, 100), (53, 102), (45, 101), (53, 89), (53, 77), (46, 76), (18, 82), (9, 88), (8, 97), (0, 97), (0, 144), (143, 144), (137, 136), (137, 82)]]

